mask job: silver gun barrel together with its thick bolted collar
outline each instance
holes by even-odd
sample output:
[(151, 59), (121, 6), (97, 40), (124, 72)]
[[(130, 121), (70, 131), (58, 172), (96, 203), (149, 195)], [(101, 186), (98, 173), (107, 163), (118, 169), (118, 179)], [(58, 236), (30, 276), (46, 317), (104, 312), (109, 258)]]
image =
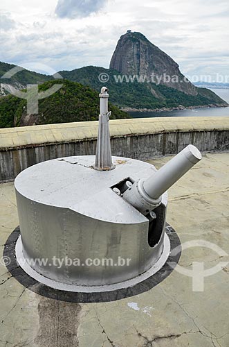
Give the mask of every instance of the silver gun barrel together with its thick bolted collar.
[(147, 215), (161, 204), (161, 196), (167, 189), (201, 159), (200, 151), (190, 144), (152, 176), (129, 185), (122, 196), (138, 211)]

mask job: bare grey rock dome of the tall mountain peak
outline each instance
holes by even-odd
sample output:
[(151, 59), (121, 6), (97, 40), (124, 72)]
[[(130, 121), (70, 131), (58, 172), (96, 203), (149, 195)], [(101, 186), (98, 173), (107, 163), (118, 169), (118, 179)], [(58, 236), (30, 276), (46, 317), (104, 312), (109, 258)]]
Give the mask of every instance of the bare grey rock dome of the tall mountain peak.
[(196, 87), (181, 74), (178, 64), (142, 33), (129, 30), (120, 37), (110, 69), (125, 75), (147, 76), (147, 81), (167, 85), (186, 94), (197, 94)]

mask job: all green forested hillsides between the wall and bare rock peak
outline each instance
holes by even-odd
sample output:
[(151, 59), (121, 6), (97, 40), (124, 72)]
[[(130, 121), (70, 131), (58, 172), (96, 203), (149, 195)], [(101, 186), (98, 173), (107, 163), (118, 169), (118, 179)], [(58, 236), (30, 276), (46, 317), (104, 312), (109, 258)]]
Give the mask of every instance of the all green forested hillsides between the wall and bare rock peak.
[[(137, 33), (138, 34), (138, 33)], [(0, 76), (15, 67), (15, 65), (0, 62)], [(109, 81), (101, 83), (100, 74), (107, 74)], [(37, 74), (31, 71), (20, 71), (7, 80), (0, 78), (0, 83), (39, 84), (39, 91), (44, 91), (55, 83), (64, 83), (63, 87), (47, 99), (39, 101), (39, 115), (35, 124), (53, 124), (71, 121), (90, 121), (98, 119), (98, 93), (102, 86), (109, 88), (111, 119), (129, 117), (120, 108), (173, 108), (178, 105), (225, 105), (219, 96), (211, 90), (197, 88), (196, 96), (187, 95), (165, 85), (154, 83), (116, 83), (113, 76), (120, 73), (103, 67), (82, 67), (73, 71), (60, 71), (64, 80), (53, 80), (52, 76)], [(45, 82), (44, 84), (40, 84)], [(93, 88), (93, 89), (92, 89)], [(113, 103), (113, 105), (112, 105)], [(114, 106), (116, 105), (116, 106)], [(8, 95), (0, 97), (0, 128), (25, 125), (26, 100)], [(33, 124), (33, 122), (31, 123)]]

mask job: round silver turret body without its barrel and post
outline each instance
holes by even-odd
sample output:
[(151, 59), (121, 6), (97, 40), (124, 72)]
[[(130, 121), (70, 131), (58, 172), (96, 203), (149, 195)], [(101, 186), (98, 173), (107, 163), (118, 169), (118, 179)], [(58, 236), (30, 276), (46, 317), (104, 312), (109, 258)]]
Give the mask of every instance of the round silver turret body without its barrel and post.
[[(163, 252), (164, 232), (148, 244), (149, 220), (111, 187), (121, 180), (147, 178), (155, 168), (113, 157), (116, 169), (96, 171), (94, 156), (59, 158), (22, 171), (15, 180), (24, 257), (46, 278), (68, 285), (111, 285), (149, 270)], [(167, 195), (163, 196), (167, 205)], [(129, 258), (129, 266), (54, 266), (53, 257), (71, 260)], [(51, 265), (50, 265), (51, 264)]]

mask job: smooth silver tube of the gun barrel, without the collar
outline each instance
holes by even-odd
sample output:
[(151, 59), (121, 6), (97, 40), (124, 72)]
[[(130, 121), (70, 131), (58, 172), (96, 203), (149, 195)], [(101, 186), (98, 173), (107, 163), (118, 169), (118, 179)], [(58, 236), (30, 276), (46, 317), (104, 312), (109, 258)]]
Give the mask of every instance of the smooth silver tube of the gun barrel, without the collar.
[(178, 153), (172, 160), (167, 162), (155, 174), (147, 178), (143, 183), (143, 188), (147, 195), (157, 199), (167, 191), (179, 178), (187, 173), (199, 162), (202, 155), (199, 149), (190, 144), (183, 151)]

